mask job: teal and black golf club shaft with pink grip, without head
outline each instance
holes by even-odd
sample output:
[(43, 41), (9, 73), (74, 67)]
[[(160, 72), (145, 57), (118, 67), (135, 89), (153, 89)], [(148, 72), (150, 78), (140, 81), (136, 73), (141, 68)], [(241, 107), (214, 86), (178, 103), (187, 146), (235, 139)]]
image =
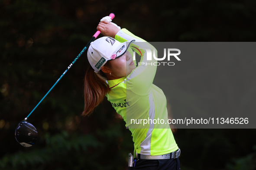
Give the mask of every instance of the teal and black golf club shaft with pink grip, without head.
[[(111, 19), (113, 19), (115, 17), (115, 15), (113, 13), (110, 13), (109, 15), (111, 17)], [(98, 30), (93, 37), (91, 38), (91, 40), (87, 43), (87, 45), (84, 47), (83, 50), (81, 50), (81, 52), (78, 54), (78, 56), (75, 58), (75, 60), (70, 63), (70, 65), (68, 66), (68, 68), (65, 70), (65, 72), (63, 72), (62, 76), (60, 76), (60, 78), (57, 80), (57, 82), (55, 82), (55, 84), (52, 86), (52, 88), (45, 94), (45, 96), (42, 98), (41, 101), (39, 101), (39, 103), (36, 105), (36, 107), (38, 107), (38, 105), (44, 100), (44, 98), (49, 94), (50, 91), (52, 91), (52, 89), (55, 87), (55, 85), (60, 81), (60, 79), (62, 79), (62, 77), (64, 76), (64, 74), (66, 72), (68, 72), (68, 70), (74, 65), (74, 63), (78, 60), (78, 58), (84, 53), (84, 51), (90, 46), (91, 42), (94, 41), (97, 36), (100, 35), (100, 31)], [(34, 110), (36, 110), (36, 107), (29, 113), (29, 115), (25, 118), (25, 120), (27, 120), (27, 118), (31, 115), (31, 113), (33, 113)]]

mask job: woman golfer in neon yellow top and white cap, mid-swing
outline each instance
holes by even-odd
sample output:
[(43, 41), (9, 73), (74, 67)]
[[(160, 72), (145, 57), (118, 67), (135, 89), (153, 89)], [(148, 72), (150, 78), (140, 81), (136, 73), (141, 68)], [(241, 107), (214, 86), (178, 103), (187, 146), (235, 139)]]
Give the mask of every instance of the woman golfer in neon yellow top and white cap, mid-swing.
[[(106, 96), (132, 132), (135, 158), (131, 157), (128, 170), (179, 170), (180, 150), (166, 123), (166, 98), (152, 84), (156, 49), (109, 20), (101, 21), (97, 29), (106, 37), (88, 48), (91, 67), (84, 80), (82, 115), (90, 115)], [(135, 55), (140, 56), (138, 64)]]

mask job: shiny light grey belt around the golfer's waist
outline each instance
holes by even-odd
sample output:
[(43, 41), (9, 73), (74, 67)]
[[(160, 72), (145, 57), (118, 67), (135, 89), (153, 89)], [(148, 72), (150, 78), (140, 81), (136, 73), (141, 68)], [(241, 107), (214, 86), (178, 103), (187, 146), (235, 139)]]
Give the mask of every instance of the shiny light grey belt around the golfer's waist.
[(162, 154), (162, 155), (146, 155), (146, 154), (137, 154), (136, 158), (138, 159), (176, 159), (180, 156), (181, 150), (178, 149), (177, 151), (173, 151), (169, 154)]

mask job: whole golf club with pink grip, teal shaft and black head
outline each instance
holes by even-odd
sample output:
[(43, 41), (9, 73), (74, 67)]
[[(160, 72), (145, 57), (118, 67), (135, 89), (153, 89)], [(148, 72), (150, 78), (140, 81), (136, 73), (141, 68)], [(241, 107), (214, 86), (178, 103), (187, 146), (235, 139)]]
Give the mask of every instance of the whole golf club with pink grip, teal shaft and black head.
[[(115, 17), (115, 15), (113, 13), (110, 13), (109, 16), (111, 17), (111, 19), (113, 19)], [(65, 73), (68, 72), (68, 70), (74, 65), (74, 63), (84, 53), (84, 51), (90, 46), (91, 42), (97, 38), (98, 35), (100, 35), (99, 30), (93, 35), (91, 40), (87, 43), (87, 45), (84, 47), (84, 49), (81, 50), (81, 52), (78, 54), (78, 56), (75, 57), (75, 60), (69, 64), (69, 66), (65, 70), (65, 72), (62, 73), (62, 76), (60, 76), (60, 78), (57, 80), (57, 82), (55, 82), (55, 84), (52, 86), (52, 88), (45, 94), (45, 96), (42, 98), (42, 100), (39, 101), (39, 103), (36, 105), (36, 107), (38, 107), (38, 105), (44, 100), (44, 98), (49, 94), (49, 92), (52, 91), (52, 89), (55, 87), (55, 85), (60, 81), (60, 79), (62, 79), (62, 77), (65, 75)], [(28, 116), (26, 116), (26, 118), (24, 120), (22, 120), (18, 124), (18, 126), (16, 127), (16, 130), (15, 130), (15, 138), (16, 138), (17, 142), (19, 142), (19, 144), (24, 147), (30, 147), (30, 146), (34, 145), (36, 142), (36, 139), (37, 139), (38, 133), (37, 133), (35, 126), (33, 126), (31, 123), (29, 123), (27, 121), (28, 117), (36, 109), (36, 107), (29, 113)]]

